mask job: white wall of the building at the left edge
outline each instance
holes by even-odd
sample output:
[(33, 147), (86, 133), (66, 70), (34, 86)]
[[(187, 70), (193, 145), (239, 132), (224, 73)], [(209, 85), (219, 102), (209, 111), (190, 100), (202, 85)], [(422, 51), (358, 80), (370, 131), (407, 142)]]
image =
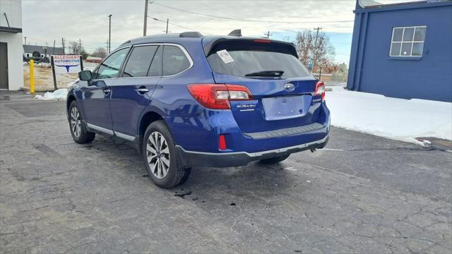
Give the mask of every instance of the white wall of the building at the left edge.
[[(0, 0), (0, 26), (22, 28), (22, 2), (21, 0)], [(8, 44), (8, 85), (9, 90), (18, 90), (23, 86), (23, 47), (22, 33), (0, 32), (0, 42)]]

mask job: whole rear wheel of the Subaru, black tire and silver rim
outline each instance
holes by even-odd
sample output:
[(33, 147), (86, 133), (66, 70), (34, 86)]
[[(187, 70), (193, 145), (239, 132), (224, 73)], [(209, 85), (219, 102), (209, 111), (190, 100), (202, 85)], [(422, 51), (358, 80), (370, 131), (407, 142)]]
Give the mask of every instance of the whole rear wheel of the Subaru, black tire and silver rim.
[[(190, 168), (179, 161), (165, 121), (150, 123), (143, 137), (143, 162), (149, 178), (161, 188), (172, 188), (189, 179)], [(169, 165), (168, 165), (169, 164)]]

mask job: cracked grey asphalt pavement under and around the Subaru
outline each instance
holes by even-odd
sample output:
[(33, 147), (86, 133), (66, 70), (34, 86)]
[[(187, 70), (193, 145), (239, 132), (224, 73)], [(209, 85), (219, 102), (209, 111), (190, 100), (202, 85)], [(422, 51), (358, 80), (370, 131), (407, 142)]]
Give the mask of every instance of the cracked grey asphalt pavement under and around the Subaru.
[(451, 253), (452, 153), (332, 128), (275, 166), (157, 188), (136, 150), (73, 142), (65, 102), (0, 100), (0, 253)]

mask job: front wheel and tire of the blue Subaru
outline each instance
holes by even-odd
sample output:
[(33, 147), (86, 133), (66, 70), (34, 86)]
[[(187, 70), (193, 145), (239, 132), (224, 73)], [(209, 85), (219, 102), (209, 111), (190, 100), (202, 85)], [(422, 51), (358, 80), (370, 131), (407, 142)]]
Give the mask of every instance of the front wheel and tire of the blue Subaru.
[(83, 117), (80, 114), (80, 108), (74, 100), (69, 105), (69, 130), (74, 141), (79, 144), (91, 143), (95, 138), (95, 133), (89, 132), (83, 124)]

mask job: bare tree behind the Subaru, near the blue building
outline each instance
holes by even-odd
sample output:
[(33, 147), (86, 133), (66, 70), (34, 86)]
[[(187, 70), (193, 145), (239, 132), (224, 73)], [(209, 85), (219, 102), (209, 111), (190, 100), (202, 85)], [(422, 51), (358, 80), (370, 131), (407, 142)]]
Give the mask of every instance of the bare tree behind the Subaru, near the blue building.
[(317, 45), (314, 45), (315, 42), (315, 32), (311, 30), (304, 30), (303, 32), (297, 33), (297, 38), (295, 39), (294, 44), (297, 49), (299, 61), (302, 61), (305, 66), (308, 66), (309, 60), (314, 58), (314, 53), (316, 54), (316, 67), (322, 62), (334, 59), (335, 49), (330, 43), (328, 35), (324, 32), (319, 32), (319, 37), (317, 37)]

